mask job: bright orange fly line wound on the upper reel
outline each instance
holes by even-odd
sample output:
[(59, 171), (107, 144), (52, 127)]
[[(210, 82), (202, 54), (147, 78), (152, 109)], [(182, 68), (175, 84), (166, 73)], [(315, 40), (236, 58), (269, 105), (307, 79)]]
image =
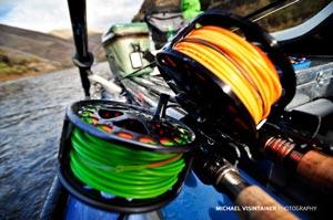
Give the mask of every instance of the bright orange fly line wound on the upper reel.
[(268, 55), (229, 30), (212, 25), (194, 29), (174, 50), (229, 85), (255, 125), (269, 116), (271, 106), (282, 94), (279, 74)]

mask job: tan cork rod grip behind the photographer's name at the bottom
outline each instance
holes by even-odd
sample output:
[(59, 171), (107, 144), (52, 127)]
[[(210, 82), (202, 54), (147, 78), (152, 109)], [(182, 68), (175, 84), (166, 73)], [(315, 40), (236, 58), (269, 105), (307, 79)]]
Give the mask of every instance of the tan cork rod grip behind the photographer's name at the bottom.
[(248, 220), (294, 220), (295, 214), (283, 208), (276, 200), (258, 186), (243, 189), (235, 199), (235, 205), (241, 207), (236, 212), (241, 219)]

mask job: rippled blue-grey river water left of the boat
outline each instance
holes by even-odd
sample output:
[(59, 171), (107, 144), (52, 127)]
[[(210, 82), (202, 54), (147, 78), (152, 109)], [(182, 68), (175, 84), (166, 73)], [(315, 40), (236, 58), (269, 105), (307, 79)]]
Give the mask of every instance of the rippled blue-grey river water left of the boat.
[[(94, 73), (108, 73), (107, 63)], [(77, 69), (0, 82), (0, 219), (36, 220), (56, 176), (65, 108), (84, 98)]]

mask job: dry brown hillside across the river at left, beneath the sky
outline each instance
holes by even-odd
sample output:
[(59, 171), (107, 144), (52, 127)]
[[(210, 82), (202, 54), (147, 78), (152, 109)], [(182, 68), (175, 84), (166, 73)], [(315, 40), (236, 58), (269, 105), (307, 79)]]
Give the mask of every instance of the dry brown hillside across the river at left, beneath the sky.
[[(0, 24), (0, 80), (49, 72), (72, 65), (71, 31), (47, 34)], [(104, 60), (102, 33), (89, 33), (89, 50)]]

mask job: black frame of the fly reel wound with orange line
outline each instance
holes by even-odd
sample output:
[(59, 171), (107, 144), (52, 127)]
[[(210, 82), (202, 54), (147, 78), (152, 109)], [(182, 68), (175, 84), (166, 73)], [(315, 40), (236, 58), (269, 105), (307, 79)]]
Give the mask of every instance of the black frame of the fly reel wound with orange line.
[(221, 10), (209, 10), (199, 14), (157, 54), (161, 75), (175, 92), (180, 105), (194, 121), (216, 127), (239, 142), (251, 143), (258, 136), (260, 126), (256, 127), (250, 113), (231, 87), (210, 73), (205, 66), (173, 50), (173, 46), (198, 24), (242, 31), (246, 41), (258, 44), (276, 65), (282, 96), (271, 107), (269, 117), (279, 117), (295, 94), (293, 67), (280, 50), (278, 41), (265, 30), (251, 21)]

